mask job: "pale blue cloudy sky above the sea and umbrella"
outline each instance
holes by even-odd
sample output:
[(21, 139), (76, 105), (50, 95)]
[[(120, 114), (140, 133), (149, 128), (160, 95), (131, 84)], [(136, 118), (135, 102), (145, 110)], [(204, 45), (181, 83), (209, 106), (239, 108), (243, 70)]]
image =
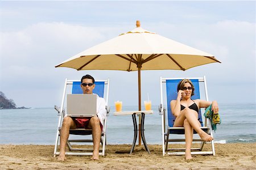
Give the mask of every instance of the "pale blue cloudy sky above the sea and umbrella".
[(60, 105), (64, 79), (110, 78), (110, 100), (137, 105), (137, 72), (55, 68), (141, 27), (214, 54), (222, 63), (142, 71), (142, 101), (160, 103), (159, 76), (207, 76), (210, 100), (255, 103), (255, 1), (0, 1), (0, 91), (18, 107)]

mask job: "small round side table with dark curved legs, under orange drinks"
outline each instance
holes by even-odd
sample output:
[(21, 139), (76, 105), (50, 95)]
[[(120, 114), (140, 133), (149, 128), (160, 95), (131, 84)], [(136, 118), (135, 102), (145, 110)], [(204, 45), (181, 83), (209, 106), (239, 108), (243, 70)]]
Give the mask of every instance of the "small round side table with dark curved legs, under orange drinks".
[(148, 154), (150, 154), (150, 150), (147, 147), (145, 135), (144, 135), (144, 119), (145, 119), (145, 114), (153, 114), (153, 111), (129, 111), (129, 112), (114, 112), (115, 116), (125, 116), (125, 115), (131, 115), (133, 117), (133, 127), (134, 127), (134, 138), (133, 138), (133, 146), (131, 147), (130, 154), (133, 152), (135, 143), (137, 141), (137, 136), (138, 136), (138, 126), (137, 126), (137, 121), (136, 121), (136, 115), (141, 114), (141, 138), (144, 144), (144, 147), (146, 148)]

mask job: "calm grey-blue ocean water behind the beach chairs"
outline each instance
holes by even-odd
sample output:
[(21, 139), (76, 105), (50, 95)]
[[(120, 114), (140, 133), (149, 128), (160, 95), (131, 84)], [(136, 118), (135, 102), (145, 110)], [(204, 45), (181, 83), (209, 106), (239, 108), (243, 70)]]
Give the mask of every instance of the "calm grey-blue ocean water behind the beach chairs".
[[(256, 142), (256, 104), (219, 104), (222, 122), (213, 133), (217, 143)], [(110, 107), (107, 142), (132, 144), (133, 121), (131, 116), (114, 116)], [(123, 107), (135, 111), (136, 106)], [(154, 114), (147, 114), (144, 134), (147, 144), (162, 144), (161, 116), (158, 106)], [(0, 144), (54, 145), (59, 117), (53, 108), (0, 109)], [(138, 118), (137, 118), (138, 120)], [(137, 140), (138, 143), (138, 140)]]

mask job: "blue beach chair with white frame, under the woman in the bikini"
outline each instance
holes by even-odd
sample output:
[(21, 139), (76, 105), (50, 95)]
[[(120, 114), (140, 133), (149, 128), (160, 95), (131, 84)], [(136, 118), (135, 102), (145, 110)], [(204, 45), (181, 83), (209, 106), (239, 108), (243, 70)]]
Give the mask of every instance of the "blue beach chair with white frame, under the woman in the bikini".
[[(161, 93), (161, 103), (159, 106), (159, 114), (162, 117), (162, 145), (163, 145), (163, 156), (165, 154), (168, 155), (185, 155), (185, 148), (168, 148), (168, 143), (179, 143), (185, 142), (184, 138), (184, 128), (183, 127), (174, 127), (175, 116), (171, 112), (171, 100), (176, 100), (177, 98), (177, 84), (180, 82), (181, 79), (184, 78), (162, 78), (160, 77), (160, 93)], [(195, 86), (195, 95), (193, 95), (192, 99), (201, 99), (201, 94), (205, 95), (205, 99), (208, 101), (208, 93), (207, 93), (207, 83), (205, 76), (203, 78), (187, 78), (190, 79)], [(166, 83), (166, 87), (164, 87), (165, 94), (163, 94), (163, 84)], [(204, 89), (204, 90), (203, 90)], [(168, 126), (166, 128), (166, 108), (163, 107), (163, 100), (167, 100), (167, 118), (168, 118)], [(201, 110), (201, 109), (200, 109)], [(210, 124), (209, 119), (205, 119), (203, 124), (203, 118), (201, 116), (201, 111), (199, 110), (199, 121), (201, 122), (201, 129), (203, 129), (206, 133), (212, 135), (212, 125)], [(194, 134), (196, 131), (194, 130)], [(204, 144), (206, 142), (201, 141), (200, 138), (196, 138), (193, 135), (193, 143), (194, 142), (201, 142), (200, 147), (191, 148), (192, 155), (215, 155), (214, 150), (214, 142), (211, 141), (212, 151), (202, 151)], [(193, 146), (193, 145), (192, 145)], [(170, 151), (170, 152), (168, 152)]]

